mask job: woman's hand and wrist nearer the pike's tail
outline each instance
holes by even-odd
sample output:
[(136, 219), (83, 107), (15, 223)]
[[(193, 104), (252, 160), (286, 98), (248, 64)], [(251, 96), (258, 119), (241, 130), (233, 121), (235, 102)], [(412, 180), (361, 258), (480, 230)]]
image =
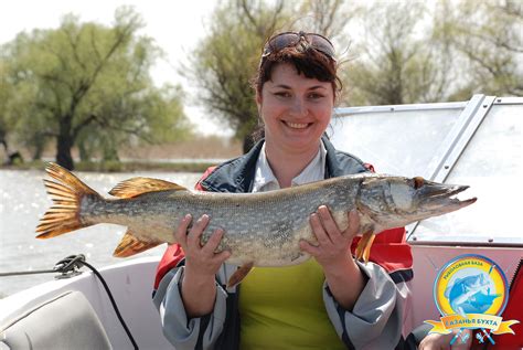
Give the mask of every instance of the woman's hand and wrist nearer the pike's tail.
[(185, 269), (182, 279), (182, 299), (189, 318), (211, 314), (216, 297), (215, 274), (231, 256), (231, 252), (214, 253), (220, 245), (224, 231), (216, 230), (205, 245), (201, 237), (210, 222), (209, 215), (202, 215), (191, 227), (190, 214), (185, 215), (174, 233), (175, 241), (185, 253)]

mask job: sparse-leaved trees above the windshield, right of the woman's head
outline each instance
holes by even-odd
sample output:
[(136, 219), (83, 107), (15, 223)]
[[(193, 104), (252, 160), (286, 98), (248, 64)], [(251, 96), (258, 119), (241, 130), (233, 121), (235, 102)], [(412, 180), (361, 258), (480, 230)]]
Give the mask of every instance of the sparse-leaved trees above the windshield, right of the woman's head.
[[(373, 1), (344, 84), (348, 105), (523, 93), (522, 7), (513, 0)], [(357, 40), (362, 38), (363, 40)]]

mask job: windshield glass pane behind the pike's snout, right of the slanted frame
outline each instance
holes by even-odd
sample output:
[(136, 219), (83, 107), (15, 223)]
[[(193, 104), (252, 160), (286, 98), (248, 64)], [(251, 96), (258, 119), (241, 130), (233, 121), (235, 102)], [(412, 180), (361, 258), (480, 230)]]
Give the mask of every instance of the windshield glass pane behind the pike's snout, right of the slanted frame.
[(523, 243), (522, 124), (522, 105), (492, 106), (445, 181), (470, 185), (460, 197), (478, 201), (420, 222), (418, 241)]

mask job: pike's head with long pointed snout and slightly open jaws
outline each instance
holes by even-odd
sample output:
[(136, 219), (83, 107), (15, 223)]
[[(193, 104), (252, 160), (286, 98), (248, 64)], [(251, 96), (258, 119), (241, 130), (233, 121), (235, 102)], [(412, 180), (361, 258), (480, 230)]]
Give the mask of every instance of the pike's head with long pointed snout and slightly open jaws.
[(477, 198), (456, 195), (468, 185), (438, 183), (420, 177), (374, 176), (363, 180), (357, 209), (374, 225), (374, 232), (402, 227), (468, 206)]

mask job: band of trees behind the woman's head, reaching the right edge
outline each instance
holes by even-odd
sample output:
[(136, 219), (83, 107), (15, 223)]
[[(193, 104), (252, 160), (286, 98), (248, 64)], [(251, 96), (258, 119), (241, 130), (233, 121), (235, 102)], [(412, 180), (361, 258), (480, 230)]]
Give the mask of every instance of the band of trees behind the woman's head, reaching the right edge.
[(338, 49), (343, 106), (523, 95), (520, 0), (223, 1), (185, 74), (198, 100), (249, 145), (257, 124), (248, 79), (275, 32), (303, 30)]

